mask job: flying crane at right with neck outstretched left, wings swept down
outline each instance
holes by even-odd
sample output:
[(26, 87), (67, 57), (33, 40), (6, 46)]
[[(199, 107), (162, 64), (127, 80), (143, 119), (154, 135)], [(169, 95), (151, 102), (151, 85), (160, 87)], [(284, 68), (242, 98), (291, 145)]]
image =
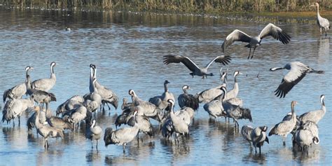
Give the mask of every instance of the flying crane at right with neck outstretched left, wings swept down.
[(301, 62), (290, 62), (285, 64), (284, 67), (273, 67), (270, 71), (276, 71), (279, 69), (289, 70), (284, 78), (282, 78), (282, 83), (280, 83), (277, 90), (275, 90), (275, 95), (280, 98), (285, 97), (291, 88), (298, 84), (307, 73), (324, 74), (324, 71), (314, 70)]

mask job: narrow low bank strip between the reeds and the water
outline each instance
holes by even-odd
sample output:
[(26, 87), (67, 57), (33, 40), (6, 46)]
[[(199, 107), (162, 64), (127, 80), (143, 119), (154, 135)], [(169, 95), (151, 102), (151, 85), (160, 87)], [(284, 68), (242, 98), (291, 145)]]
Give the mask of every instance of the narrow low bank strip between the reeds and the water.
[[(1, 0), (0, 0), (1, 1)], [(176, 12), (176, 11), (130, 11), (130, 10), (120, 10), (120, 9), (96, 9), (96, 8), (43, 8), (43, 7), (20, 7), (11, 6), (8, 7), (4, 4), (0, 4), (0, 9), (6, 8), (11, 10), (36, 10), (36, 11), (61, 11), (62, 13), (76, 13), (77, 11), (83, 12), (113, 12), (113, 13), (139, 13), (139, 14), (156, 14), (156, 15), (185, 15), (185, 16), (202, 16), (205, 18), (237, 18), (240, 20), (245, 19), (256, 19), (258, 21), (281, 21), (281, 22), (312, 22), (316, 21), (317, 13), (316, 11), (291, 11), (291, 12), (223, 12), (223, 13), (188, 13), (188, 12)], [(320, 15), (328, 20), (332, 20), (332, 11), (319, 11)], [(263, 19), (261, 19), (263, 18)]]

